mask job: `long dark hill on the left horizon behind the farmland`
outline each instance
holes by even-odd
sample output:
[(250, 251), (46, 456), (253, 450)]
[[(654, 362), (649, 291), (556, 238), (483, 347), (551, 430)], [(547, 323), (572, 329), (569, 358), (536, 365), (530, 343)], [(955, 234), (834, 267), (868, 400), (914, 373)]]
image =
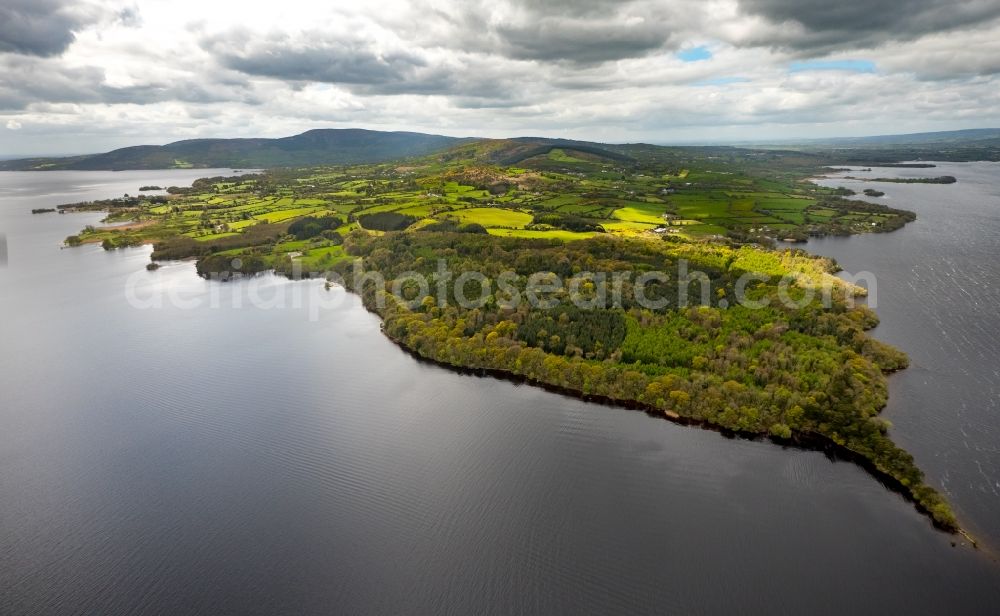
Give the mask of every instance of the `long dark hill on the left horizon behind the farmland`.
[(0, 161), (0, 170), (125, 170), (210, 167), (302, 167), (374, 163), (422, 156), (463, 139), (408, 132), (317, 129), (280, 139), (189, 139), (104, 154)]

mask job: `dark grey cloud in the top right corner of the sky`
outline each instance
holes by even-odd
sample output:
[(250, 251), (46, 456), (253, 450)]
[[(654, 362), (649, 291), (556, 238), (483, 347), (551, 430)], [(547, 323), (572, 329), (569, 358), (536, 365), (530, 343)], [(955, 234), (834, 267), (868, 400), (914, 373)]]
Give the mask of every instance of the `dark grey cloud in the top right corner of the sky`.
[(740, 0), (740, 7), (774, 24), (801, 24), (804, 32), (789, 29), (771, 43), (807, 51), (873, 47), (1000, 17), (998, 0)]

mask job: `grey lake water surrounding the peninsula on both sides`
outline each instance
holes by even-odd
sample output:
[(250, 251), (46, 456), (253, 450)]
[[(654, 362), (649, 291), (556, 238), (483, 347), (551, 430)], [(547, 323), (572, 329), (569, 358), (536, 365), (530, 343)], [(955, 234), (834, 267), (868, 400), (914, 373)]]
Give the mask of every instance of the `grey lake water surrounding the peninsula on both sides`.
[[(148, 248), (60, 249), (99, 215), (30, 214), (206, 174), (0, 173), (0, 613), (983, 614), (1000, 601), (989, 554), (953, 547), (852, 464), (417, 362), (341, 290), (318, 320), (234, 308), (251, 292), (327, 292), (208, 282), (190, 263), (146, 272)], [(953, 199), (965, 184), (905, 188)], [(966, 213), (932, 201), (955, 224)], [(986, 254), (997, 221), (975, 220), (955, 244)], [(915, 245), (816, 249), (873, 271), (919, 264), (883, 240)], [(980, 267), (967, 294), (880, 278), (878, 335), (914, 359), (892, 379), (893, 435), (992, 538), (996, 356), (971, 341), (995, 336), (980, 303), (996, 287), (977, 285), (996, 266), (959, 254)], [(129, 281), (203, 301), (139, 309)], [(952, 343), (932, 342), (942, 331)], [(939, 372), (961, 380), (921, 389), (948, 381)]]

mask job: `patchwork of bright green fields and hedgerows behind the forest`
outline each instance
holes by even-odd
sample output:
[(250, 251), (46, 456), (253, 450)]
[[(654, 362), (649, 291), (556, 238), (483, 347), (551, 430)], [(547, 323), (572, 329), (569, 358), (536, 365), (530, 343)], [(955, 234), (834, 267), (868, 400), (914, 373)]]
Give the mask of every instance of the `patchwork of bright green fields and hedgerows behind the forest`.
[[(722, 164), (644, 147), (578, 151), (482, 141), (405, 166), (208, 178), (166, 200), (110, 208), (109, 220), (143, 224), (86, 229), (73, 241), (108, 248), (153, 242), (165, 258), (243, 249), (266, 266), (284, 267), (292, 258), (339, 258), (333, 248), (360, 227), (375, 234), (460, 230), (561, 241), (605, 234), (767, 245), (810, 233), (888, 231), (908, 216), (806, 182), (815, 169), (754, 159)], [(508, 159), (516, 161), (491, 162)], [(194, 243), (185, 248), (171, 238)]]

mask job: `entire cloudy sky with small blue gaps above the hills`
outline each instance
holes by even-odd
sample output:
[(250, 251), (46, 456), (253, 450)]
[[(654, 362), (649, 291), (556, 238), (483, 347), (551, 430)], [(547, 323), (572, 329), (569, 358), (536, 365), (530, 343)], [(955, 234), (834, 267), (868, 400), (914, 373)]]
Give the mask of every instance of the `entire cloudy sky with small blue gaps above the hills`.
[(995, 127), (998, 75), (1000, 0), (0, 0), (0, 156), (318, 127)]

